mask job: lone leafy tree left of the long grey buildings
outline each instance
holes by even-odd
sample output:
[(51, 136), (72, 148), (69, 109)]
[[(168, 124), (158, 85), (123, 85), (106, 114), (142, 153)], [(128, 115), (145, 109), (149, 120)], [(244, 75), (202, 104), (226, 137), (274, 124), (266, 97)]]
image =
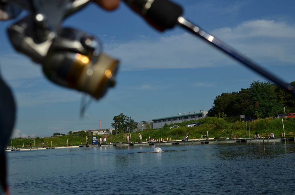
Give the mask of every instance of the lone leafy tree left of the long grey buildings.
[(130, 133), (133, 130), (137, 129), (137, 125), (134, 123), (134, 120), (131, 117), (127, 117), (123, 113), (118, 116), (114, 116), (114, 123), (112, 127), (115, 129), (115, 133)]

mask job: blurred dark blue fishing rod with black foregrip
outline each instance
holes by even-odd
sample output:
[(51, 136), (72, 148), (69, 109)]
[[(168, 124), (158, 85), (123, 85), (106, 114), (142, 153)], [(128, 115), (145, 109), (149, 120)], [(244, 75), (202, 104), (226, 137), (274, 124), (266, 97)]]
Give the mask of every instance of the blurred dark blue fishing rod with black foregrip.
[(232, 47), (228, 46), (221, 40), (206, 32), (201, 27), (193, 24), (182, 16), (181, 6), (168, 0), (123, 0), (131, 9), (143, 16), (143, 18), (153, 27), (160, 31), (171, 29), (175, 25), (183, 27), (192, 34), (200, 37), (205, 42), (216, 47), (220, 51), (229, 55), (233, 59), (240, 62), (242, 65), (250, 68), (258, 74), (266, 77), (268, 80), (276, 83), (283, 89), (295, 95), (295, 87), (281, 80), (276, 75), (264, 69), (254, 61), (245, 57), (244, 54), (237, 52)]

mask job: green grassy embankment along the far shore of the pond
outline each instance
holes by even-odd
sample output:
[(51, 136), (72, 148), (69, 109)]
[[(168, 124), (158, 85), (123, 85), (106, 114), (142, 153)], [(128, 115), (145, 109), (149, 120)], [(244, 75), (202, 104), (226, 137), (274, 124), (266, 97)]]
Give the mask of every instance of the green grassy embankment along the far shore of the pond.
[[(204, 122), (203, 125), (200, 125), (198, 127), (185, 127), (188, 123), (192, 122)], [(237, 131), (236, 131), (236, 125), (235, 122), (237, 122)], [(142, 141), (146, 141), (148, 139), (148, 136), (150, 135), (151, 138), (164, 138), (165, 140), (170, 138), (172, 140), (179, 140), (182, 139), (185, 134), (189, 135), (189, 139), (192, 139), (193, 137), (201, 138), (201, 132), (204, 136), (207, 134), (207, 131), (209, 133), (209, 138), (217, 138), (217, 139), (223, 139), (226, 137), (230, 137), (230, 135), (233, 135), (233, 137), (230, 138), (253, 138), (255, 135), (255, 132), (259, 131), (259, 122), (261, 125), (261, 133), (266, 133), (266, 137), (269, 131), (272, 131), (275, 137), (281, 137), (283, 133), (283, 124), (282, 119), (275, 119), (275, 118), (265, 118), (265, 119), (258, 119), (254, 122), (250, 123), (250, 135), (249, 135), (249, 123), (247, 122), (247, 132), (246, 132), (246, 123), (240, 122), (240, 118), (238, 117), (228, 117), (228, 118), (216, 118), (216, 117), (206, 117), (203, 119), (199, 119), (198, 121), (187, 121), (183, 123), (174, 123), (173, 125), (179, 125), (179, 128), (172, 128), (170, 127), (172, 125), (166, 125), (163, 128), (160, 128), (158, 130), (150, 130), (150, 131), (140, 131), (140, 132), (134, 132), (131, 133), (131, 140), (132, 142), (139, 141), (138, 133), (142, 134)], [(288, 136), (289, 132), (295, 132), (295, 118), (285, 118), (284, 119), (284, 127), (285, 127), (285, 133)], [(101, 138), (106, 137), (107, 142), (110, 141), (112, 143), (116, 142), (126, 142), (126, 135), (127, 134), (116, 134), (116, 135), (101, 135)], [(294, 134), (292, 134), (294, 135)], [(260, 137), (262, 135), (260, 134)], [(99, 135), (97, 136), (99, 138)], [(73, 137), (73, 136), (60, 136), (57, 138), (43, 138), (44, 145), (48, 146), (51, 145), (51, 141), (53, 146), (65, 146), (67, 139), (69, 140), (70, 145), (81, 145), (86, 143), (86, 138), (84, 137)], [(32, 139), (12, 139), (9, 140), (8, 145), (12, 145), (15, 147), (19, 147), (20, 145), (24, 143), (25, 146), (29, 146), (29, 143), (32, 143), (32, 146), (34, 144), (34, 141)], [(19, 145), (20, 141), (20, 145)], [(91, 143), (91, 137), (89, 137), (89, 143)], [(35, 146), (42, 146), (42, 141), (40, 139), (35, 139)]]

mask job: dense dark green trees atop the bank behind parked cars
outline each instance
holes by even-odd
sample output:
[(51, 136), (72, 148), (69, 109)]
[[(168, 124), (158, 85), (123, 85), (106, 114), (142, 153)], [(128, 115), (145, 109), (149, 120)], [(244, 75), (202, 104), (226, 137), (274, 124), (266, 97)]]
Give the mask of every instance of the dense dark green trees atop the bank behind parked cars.
[[(295, 82), (289, 83), (295, 85)], [(246, 117), (266, 118), (275, 114), (295, 113), (295, 97), (281, 87), (270, 82), (254, 81), (247, 89), (239, 92), (217, 95), (209, 116), (224, 112), (228, 117), (246, 115)]]

